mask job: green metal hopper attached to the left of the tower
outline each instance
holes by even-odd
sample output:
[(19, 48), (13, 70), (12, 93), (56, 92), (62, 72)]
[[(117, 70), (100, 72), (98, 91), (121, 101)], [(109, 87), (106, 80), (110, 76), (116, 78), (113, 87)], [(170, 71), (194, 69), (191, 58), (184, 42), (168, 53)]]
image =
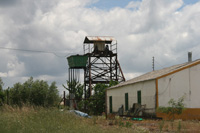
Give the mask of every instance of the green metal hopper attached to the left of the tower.
[(67, 57), (70, 68), (85, 68), (88, 60), (87, 55), (72, 55)]

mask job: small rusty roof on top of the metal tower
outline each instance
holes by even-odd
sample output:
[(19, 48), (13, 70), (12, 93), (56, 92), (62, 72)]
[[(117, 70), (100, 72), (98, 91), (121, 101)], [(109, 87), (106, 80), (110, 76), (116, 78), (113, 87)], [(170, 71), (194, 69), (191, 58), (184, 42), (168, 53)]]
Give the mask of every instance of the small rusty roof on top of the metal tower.
[(94, 43), (94, 42), (105, 42), (106, 44), (111, 44), (115, 40), (111, 36), (86, 36), (84, 43)]

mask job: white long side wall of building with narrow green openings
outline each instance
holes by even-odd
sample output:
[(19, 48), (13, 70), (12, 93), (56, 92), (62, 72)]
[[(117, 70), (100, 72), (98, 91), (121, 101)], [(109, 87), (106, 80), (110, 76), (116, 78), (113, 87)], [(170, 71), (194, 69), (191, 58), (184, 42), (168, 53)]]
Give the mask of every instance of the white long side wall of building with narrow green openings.
[(107, 90), (107, 112), (110, 113), (109, 97), (112, 96), (112, 111), (117, 112), (121, 105), (125, 109), (125, 93), (128, 93), (128, 107), (132, 108), (137, 103), (137, 91), (141, 90), (141, 104), (155, 111), (155, 80), (126, 85), (119, 88)]

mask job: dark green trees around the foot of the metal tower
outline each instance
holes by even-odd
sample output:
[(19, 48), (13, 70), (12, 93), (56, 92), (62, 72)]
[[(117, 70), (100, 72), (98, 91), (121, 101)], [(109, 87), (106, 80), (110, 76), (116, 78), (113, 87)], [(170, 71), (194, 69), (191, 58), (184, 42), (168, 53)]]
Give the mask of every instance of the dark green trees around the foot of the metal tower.
[[(81, 85), (78, 81), (72, 80), (71, 82), (67, 81), (67, 86), (63, 85), (63, 87), (75, 95), (75, 99), (77, 101), (77, 105), (79, 110), (86, 111), (88, 110), (90, 114), (101, 114), (105, 111), (105, 92), (106, 88), (111, 87), (113, 85), (118, 84), (117, 81), (111, 81), (108, 84), (96, 84), (93, 88), (94, 94), (85, 100), (81, 100), (83, 97), (83, 85)], [(86, 107), (86, 108), (84, 108)]]

